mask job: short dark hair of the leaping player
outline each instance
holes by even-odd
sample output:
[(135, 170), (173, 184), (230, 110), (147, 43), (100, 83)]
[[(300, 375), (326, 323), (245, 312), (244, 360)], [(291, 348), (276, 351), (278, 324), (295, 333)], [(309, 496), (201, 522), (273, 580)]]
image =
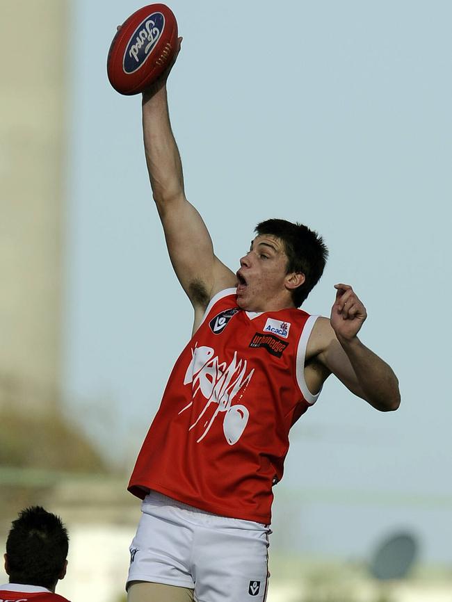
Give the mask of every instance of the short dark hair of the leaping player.
[(277, 219), (260, 222), (255, 232), (258, 236), (271, 234), (280, 238), (288, 260), (286, 274), (302, 272), (305, 275), (305, 282), (291, 291), (293, 304), (300, 307), (323, 274), (328, 257), (323, 238), (303, 224)]

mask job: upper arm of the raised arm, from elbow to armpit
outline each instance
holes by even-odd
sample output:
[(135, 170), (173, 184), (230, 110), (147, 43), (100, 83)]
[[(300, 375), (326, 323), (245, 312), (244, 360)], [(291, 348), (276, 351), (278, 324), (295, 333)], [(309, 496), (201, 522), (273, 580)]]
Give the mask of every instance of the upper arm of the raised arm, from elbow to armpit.
[(193, 306), (205, 307), (215, 293), (234, 286), (236, 277), (214, 254), (204, 220), (183, 195), (157, 209), (177, 278)]

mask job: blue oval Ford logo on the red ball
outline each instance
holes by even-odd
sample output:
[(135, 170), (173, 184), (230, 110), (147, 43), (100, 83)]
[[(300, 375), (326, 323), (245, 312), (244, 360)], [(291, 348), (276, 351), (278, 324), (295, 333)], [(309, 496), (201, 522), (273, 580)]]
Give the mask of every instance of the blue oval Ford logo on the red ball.
[(125, 73), (131, 74), (143, 67), (145, 60), (159, 41), (164, 27), (165, 17), (162, 13), (152, 13), (143, 19), (132, 33), (124, 52), (122, 68)]

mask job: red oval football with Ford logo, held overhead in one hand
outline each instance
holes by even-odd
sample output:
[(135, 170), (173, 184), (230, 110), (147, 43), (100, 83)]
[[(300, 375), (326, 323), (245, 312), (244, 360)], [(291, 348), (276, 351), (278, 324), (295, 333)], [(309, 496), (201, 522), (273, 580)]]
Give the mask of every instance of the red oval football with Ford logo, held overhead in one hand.
[(120, 94), (143, 92), (165, 70), (177, 47), (177, 21), (165, 4), (143, 6), (122, 24), (106, 63), (108, 79)]

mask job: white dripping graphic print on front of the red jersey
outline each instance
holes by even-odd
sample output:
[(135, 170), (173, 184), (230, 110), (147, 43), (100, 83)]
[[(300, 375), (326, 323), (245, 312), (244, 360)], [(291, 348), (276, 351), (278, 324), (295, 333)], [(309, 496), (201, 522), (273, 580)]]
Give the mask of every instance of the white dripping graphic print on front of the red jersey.
[[(197, 347), (197, 343), (195, 344), (195, 349), (191, 350), (192, 358), (185, 373), (184, 384), (191, 382), (193, 399), (197, 393), (200, 393), (207, 400), (207, 403), (189, 430), (192, 430), (200, 423), (202, 417), (206, 414), (206, 419), (202, 425), (204, 432), (196, 441), (199, 443), (209, 432), (218, 414), (223, 412), (225, 414), (223, 432), (227, 443), (234, 445), (239, 441), (245, 430), (250, 412), (248, 412), (248, 408), (244, 405), (238, 403), (232, 405), (232, 401), (239, 391), (241, 391), (239, 400), (243, 397), (243, 393), (245, 393), (245, 389), (248, 387), (248, 383), (255, 370), (253, 368), (248, 375), (245, 375), (248, 365), (247, 361), (245, 359), (237, 359), (237, 352), (234, 352), (234, 358), (229, 366), (227, 366), (225, 361), (220, 362), (218, 356), (214, 354), (215, 350), (211, 347)], [(209, 419), (208, 410), (212, 404), (216, 404), (217, 407)], [(192, 405), (193, 400), (181, 409), (179, 414)]]

